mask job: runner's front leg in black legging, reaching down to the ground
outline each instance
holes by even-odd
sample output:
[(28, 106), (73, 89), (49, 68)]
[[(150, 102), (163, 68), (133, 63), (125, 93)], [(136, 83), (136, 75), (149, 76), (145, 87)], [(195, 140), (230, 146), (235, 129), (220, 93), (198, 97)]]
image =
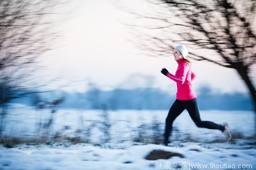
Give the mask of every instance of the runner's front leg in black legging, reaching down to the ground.
[(164, 144), (167, 146), (169, 136), (172, 130), (172, 123), (184, 111), (184, 107), (182, 107), (179, 100), (174, 101), (172, 104), (172, 107), (169, 110), (168, 116), (166, 118), (166, 127), (165, 127), (165, 134), (164, 134)]

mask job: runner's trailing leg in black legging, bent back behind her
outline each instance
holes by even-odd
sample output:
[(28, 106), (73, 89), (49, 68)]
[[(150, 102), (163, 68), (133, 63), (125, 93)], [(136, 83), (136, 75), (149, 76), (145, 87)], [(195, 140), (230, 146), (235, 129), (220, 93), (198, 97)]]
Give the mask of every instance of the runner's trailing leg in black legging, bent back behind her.
[(201, 121), (198, 104), (197, 104), (197, 98), (192, 100), (182, 101), (182, 106), (187, 109), (190, 117), (192, 118), (194, 123), (196, 123), (196, 126), (202, 127), (202, 128), (209, 128), (209, 129), (219, 129), (222, 131), (224, 130), (224, 126), (220, 124), (216, 124), (212, 121)]

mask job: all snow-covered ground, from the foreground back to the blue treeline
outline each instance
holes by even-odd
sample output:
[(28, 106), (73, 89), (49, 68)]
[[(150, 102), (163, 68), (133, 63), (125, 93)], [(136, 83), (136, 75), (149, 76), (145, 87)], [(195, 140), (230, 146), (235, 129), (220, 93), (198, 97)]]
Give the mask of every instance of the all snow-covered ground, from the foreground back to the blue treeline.
[[(50, 117), (47, 110), (28, 107), (11, 111), (5, 130), (7, 136), (36, 138), (40, 117), (42, 122)], [(89, 142), (72, 144), (63, 140), (17, 144), (14, 148), (0, 145), (0, 170), (256, 169), (253, 112), (201, 111), (202, 120), (228, 122), (234, 134), (232, 142), (226, 142), (218, 130), (196, 127), (184, 111), (174, 122), (169, 146), (150, 144), (152, 136), (162, 136), (167, 112), (61, 109), (54, 114), (51, 134), (61, 132), (62, 136), (88, 138)], [(102, 142), (108, 134), (102, 132), (103, 125), (108, 123), (110, 126), (105, 127), (110, 138)], [(138, 137), (143, 141), (137, 141)], [(146, 160), (152, 150), (176, 152), (184, 157)]]

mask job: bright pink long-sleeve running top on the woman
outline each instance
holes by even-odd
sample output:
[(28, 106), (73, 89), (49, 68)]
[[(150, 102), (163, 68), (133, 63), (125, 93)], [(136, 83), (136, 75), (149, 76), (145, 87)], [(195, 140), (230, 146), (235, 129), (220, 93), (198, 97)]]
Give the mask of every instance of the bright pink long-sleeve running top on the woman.
[(190, 100), (196, 98), (196, 94), (192, 90), (192, 80), (196, 77), (196, 73), (191, 70), (189, 63), (184, 59), (177, 60), (178, 68), (175, 75), (167, 73), (167, 77), (177, 83), (176, 99)]

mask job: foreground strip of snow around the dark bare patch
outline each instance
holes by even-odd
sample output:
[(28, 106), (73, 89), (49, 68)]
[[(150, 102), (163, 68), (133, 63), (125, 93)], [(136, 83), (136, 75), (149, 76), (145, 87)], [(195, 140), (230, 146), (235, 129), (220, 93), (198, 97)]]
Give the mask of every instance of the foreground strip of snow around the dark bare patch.
[[(255, 142), (255, 141), (254, 141)], [(15, 148), (0, 150), (0, 169), (3, 170), (120, 170), (120, 169), (156, 169), (156, 163), (165, 162), (181, 165), (189, 164), (239, 164), (252, 165), (256, 169), (256, 150), (254, 148), (229, 148), (228, 143), (221, 143), (222, 147), (200, 146), (196, 143), (182, 147), (168, 147), (156, 144), (131, 146), (126, 149), (110, 149), (93, 146), (91, 144), (76, 144), (68, 148)], [(209, 144), (210, 146), (210, 144)], [(152, 150), (178, 152), (185, 157), (172, 157), (167, 160), (146, 160), (145, 157)], [(164, 169), (164, 167), (162, 167)]]

